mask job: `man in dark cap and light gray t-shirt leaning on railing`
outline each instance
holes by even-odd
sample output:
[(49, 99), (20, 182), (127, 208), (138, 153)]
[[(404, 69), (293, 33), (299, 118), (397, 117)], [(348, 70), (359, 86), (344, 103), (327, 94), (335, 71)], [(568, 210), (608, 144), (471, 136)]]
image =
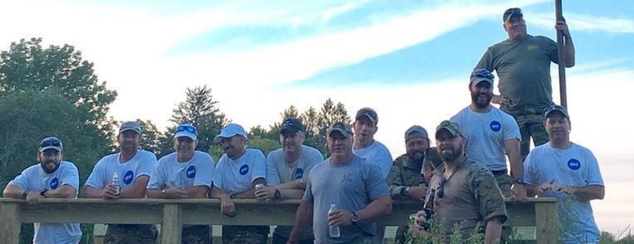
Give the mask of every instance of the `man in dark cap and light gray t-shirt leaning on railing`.
[[(304, 125), (295, 118), (282, 122), (280, 143), (282, 148), (271, 151), (266, 157), (266, 183), (270, 186), (256, 189), (256, 197), (261, 200), (300, 199), (304, 196), (307, 177), (314, 165), (323, 161), (319, 150), (305, 146)], [(273, 244), (284, 244), (293, 226), (278, 226), (273, 232)], [(308, 229), (300, 244), (312, 244), (312, 229)]]

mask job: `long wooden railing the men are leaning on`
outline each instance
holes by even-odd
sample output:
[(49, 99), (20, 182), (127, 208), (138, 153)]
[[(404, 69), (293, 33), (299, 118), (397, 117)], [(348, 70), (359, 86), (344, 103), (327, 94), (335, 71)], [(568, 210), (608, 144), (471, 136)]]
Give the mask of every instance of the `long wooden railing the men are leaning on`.
[[(81, 222), (110, 224), (161, 224), (162, 244), (181, 243), (183, 224), (293, 225), (300, 200), (259, 202), (235, 200), (235, 217), (221, 215), (216, 199), (44, 199), (39, 205), (25, 200), (0, 198), (0, 236), (3, 243), (18, 244), (23, 222)], [(392, 214), (380, 222), (385, 226), (406, 226), (418, 209), (417, 202), (396, 202)], [(557, 202), (554, 198), (533, 198), (526, 203), (507, 201), (512, 226), (536, 226), (536, 242), (557, 243)]]

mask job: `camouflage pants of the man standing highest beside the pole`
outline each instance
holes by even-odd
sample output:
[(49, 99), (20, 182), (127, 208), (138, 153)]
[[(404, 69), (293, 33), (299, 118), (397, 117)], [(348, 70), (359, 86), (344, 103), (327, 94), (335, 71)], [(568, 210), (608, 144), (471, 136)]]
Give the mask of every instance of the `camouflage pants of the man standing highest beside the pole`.
[(519, 151), (522, 155), (522, 161), (526, 159), (528, 152), (531, 150), (531, 137), (533, 144), (539, 146), (548, 142), (548, 132), (544, 127), (544, 109), (543, 108), (524, 108), (521, 111), (508, 111), (517, 122), (519, 132), (522, 136)]

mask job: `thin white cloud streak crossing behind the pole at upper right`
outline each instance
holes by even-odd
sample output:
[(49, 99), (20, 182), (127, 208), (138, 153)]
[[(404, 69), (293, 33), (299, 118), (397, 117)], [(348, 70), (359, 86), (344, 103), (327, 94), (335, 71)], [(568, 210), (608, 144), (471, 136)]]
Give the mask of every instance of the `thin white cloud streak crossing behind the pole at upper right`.
[[(634, 33), (634, 20), (628, 18), (609, 18), (574, 13), (566, 13), (564, 17), (566, 17), (566, 22), (571, 30), (608, 32), (612, 34)], [(555, 26), (555, 16), (553, 15), (527, 15), (526, 20), (545, 28), (553, 28)]]

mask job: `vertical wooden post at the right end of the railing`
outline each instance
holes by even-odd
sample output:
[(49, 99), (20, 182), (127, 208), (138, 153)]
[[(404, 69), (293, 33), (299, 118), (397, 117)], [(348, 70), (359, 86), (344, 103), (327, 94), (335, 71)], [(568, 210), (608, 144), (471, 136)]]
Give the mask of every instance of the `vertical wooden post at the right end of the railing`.
[(535, 203), (536, 240), (538, 244), (556, 244), (559, 237), (557, 202)]

